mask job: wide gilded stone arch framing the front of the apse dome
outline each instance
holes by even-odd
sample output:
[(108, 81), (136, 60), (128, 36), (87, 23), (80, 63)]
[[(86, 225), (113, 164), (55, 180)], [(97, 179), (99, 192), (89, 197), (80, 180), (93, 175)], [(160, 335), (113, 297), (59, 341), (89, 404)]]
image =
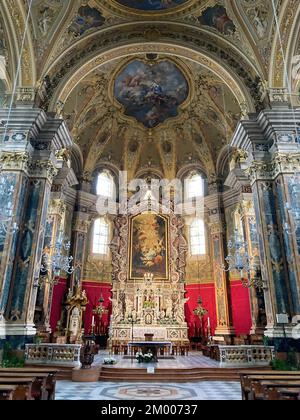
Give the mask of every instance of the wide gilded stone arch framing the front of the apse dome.
[[(155, 52), (199, 63), (229, 87), (244, 111), (255, 111), (260, 73), (240, 50), (203, 28), (172, 23), (174, 34), (170, 30), (164, 34), (163, 22), (155, 25), (157, 29), (153, 28), (153, 24), (145, 23), (142, 33), (138, 32), (130, 38), (128, 32), (133, 28), (123, 24), (79, 40), (44, 72), (49, 98), (44, 107), (54, 111), (58, 102), (64, 103), (77, 84), (103, 64), (122, 57)], [(190, 36), (187, 29), (190, 29)], [(134, 30), (137, 31), (137, 28)], [(100, 33), (100, 40), (95, 41)], [(67, 62), (64, 57), (67, 57)]]

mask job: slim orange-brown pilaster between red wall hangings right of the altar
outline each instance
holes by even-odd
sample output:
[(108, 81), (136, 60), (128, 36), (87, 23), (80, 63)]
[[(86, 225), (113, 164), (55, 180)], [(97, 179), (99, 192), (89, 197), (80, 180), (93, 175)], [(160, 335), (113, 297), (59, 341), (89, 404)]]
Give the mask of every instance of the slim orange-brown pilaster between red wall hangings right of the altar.
[(210, 235), (214, 265), (217, 307), (217, 329), (215, 336), (234, 336), (232, 324), (229, 278), (222, 267), (225, 264), (225, 224), (219, 208), (210, 210)]

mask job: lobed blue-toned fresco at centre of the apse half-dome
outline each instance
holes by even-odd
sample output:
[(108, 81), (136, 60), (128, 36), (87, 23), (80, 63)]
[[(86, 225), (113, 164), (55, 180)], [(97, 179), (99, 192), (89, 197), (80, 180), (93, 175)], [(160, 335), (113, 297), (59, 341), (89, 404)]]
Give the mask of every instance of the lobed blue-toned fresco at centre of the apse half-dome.
[(189, 85), (169, 60), (155, 64), (134, 60), (117, 76), (114, 94), (125, 115), (154, 128), (178, 116), (179, 106), (188, 98)]

